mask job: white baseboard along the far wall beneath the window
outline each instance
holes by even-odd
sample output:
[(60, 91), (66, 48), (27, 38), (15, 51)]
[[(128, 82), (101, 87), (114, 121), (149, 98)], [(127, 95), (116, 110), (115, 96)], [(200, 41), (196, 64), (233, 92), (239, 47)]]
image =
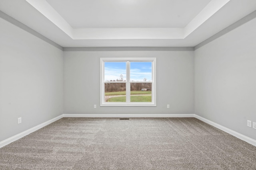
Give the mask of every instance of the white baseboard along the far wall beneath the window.
[(63, 117), (194, 117), (194, 114), (63, 114)]

